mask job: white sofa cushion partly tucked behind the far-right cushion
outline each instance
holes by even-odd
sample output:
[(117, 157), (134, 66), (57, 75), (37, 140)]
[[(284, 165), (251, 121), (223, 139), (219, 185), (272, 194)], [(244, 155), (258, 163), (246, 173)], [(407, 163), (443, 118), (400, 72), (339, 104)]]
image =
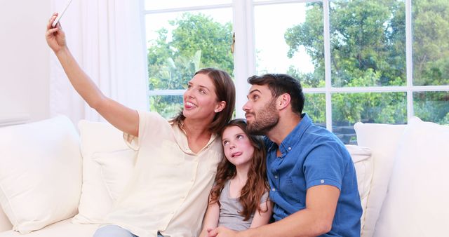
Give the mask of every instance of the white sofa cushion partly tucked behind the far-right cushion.
[(373, 236), (380, 209), (387, 194), (394, 154), (396, 154), (398, 142), (405, 128), (406, 125), (381, 123), (356, 123), (354, 125), (357, 144), (371, 149), (374, 162), (373, 180), (361, 228), (363, 237)]

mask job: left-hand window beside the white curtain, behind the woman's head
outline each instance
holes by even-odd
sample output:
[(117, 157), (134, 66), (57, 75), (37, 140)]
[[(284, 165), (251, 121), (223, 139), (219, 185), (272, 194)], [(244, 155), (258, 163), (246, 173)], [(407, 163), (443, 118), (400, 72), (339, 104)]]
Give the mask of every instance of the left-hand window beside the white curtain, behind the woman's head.
[[(208, 5), (206, 5), (208, 4)], [(145, 1), (150, 110), (173, 117), (203, 67), (232, 74), (232, 1)]]

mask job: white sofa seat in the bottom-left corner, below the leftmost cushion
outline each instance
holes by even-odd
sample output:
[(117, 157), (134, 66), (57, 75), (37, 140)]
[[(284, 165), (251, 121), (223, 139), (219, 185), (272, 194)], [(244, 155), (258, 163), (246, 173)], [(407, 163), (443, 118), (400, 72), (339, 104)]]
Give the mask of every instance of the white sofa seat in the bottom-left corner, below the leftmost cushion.
[(0, 237), (91, 237), (97, 229), (97, 224), (72, 224), (70, 219), (65, 219), (46, 226), (39, 231), (27, 234), (20, 234), (17, 231), (5, 231), (0, 233)]

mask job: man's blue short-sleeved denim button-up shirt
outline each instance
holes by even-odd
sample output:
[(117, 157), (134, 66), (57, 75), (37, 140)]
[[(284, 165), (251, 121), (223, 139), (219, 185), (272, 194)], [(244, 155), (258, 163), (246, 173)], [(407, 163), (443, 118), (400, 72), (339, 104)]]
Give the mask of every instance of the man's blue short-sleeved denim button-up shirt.
[(306, 191), (316, 185), (340, 189), (332, 230), (323, 236), (360, 236), (361, 201), (356, 171), (344, 144), (325, 128), (315, 126), (307, 114), (277, 144), (265, 137), (267, 175), (273, 216), (279, 221), (306, 208)]

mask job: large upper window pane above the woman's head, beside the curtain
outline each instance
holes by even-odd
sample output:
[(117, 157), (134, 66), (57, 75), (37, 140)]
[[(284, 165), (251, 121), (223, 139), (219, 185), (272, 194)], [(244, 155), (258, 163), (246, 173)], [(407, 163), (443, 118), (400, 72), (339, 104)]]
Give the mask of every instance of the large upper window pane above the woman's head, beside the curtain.
[(149, 90), (184, 89), (194, 72), (232, 74), (232, 9), (146, 16)]

